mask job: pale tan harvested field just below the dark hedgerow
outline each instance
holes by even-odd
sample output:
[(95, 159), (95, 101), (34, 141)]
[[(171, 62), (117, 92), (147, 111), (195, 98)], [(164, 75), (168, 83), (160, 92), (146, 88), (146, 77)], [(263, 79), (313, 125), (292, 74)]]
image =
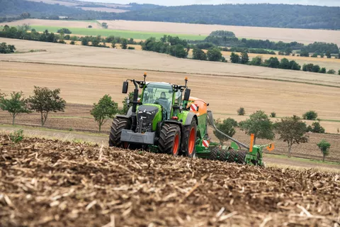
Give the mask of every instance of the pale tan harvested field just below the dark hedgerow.
[[(42, 62), (62, 65), (115, 67), (131, 70), (254, 77), (307, 82), (312, 84), (327, 84), (340, 87), (340, 77), (335, 74), (298, 72), (223, 62), (179, 59), (157, 52), (138, 50), (94, 48), (89, 46), (42, 43), (8, 38), (0, 38), (0, 42), (15, 45), (18, 51), (35, 49), (47, 50), (46, 52), (33, 52), (20, 55), (0, 55), (0, 61)], [(3, 63), (0, 62), (0, 64)], [(322, 66), (322, 64), (320, 65)]]

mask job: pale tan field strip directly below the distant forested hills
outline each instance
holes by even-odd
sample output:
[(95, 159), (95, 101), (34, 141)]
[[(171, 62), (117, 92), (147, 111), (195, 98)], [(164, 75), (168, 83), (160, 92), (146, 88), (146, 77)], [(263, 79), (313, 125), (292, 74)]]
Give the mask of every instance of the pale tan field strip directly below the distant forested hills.
[[(98, 21), (99, 23), (108, 23), (109, 30), (120, 31), (140, 31), (142, 33), (166, 33), (166, 34), (191, 34), (194, 37), (209, 35), (212, 31), (226, 30), (232, 31), (239, 38), (254, 38), (261, 40), (283, 41), (283, 42), (299, 42), (299, 43), (314, 43), (327, 42), (340, 45), (340, 31), (328, 30), (312, 30), (312, 29), (296, 29), (296, 28), (260, 28), (246, 26), (222, 26), (222, 25), (203, 25), (191, 23), (169, 23), (156, 21)], [(67, 27), (67, 28), (87, 28), (92, 25), (87, 21), (52, 21), (40, 19), (26, 19), (21, 21), (13, 21), (11, 23), (0, 23), (0, 26), (5, 24), (11, 26), (22, 25), (28, 23), (31, 26), (49, 26)], [(92, 25), (98, 28), (98, 25)], [(71, 29), (72, 30), (72, 29)], [(91, 31), (89, 31), (90, 35)], [(109, 33), (109, 32), (107, 32)], [(77, 34), (77, 33), (74, 33)], [(81, 34), (80, 34), (81, 35)], [(98, 33), (97, 35), (103, 35)], [(133, 38), (133, 37), (132, 37)]]

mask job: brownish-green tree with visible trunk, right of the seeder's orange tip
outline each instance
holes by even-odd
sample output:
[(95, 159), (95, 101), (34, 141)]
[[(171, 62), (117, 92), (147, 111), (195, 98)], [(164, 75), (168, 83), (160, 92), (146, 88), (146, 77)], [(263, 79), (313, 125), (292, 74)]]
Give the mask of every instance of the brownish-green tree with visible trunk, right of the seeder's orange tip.
[(292, 145), (307, 143), (307, 126), (298, 116), (282, 118), (275, 124), (276, 133), (280, 135), (280, 140), (288, 143), (288, 157), (291, 156)]

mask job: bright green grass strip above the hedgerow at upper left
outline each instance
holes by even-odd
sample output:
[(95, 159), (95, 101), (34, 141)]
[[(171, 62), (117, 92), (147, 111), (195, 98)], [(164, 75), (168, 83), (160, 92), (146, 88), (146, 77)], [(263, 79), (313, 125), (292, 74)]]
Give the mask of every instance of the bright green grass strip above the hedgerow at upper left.
[[(31, 26), (36, 31), (45, 31), (46, 29), (49, 32), (56, 33), (60, 28), (63, 27), (56, 27), (56, 26)], [(186, 39), (186, 40), (204, 40), (205, 35), (189, 35), (189, 34), (176, 34), (176, 33), (149, 33), (149, 32), (142, 32), (142, 31), (121, 31), (121, 30), (110, 30), (110, 29), (96, 29), (96, 28), (69, 28), (74, 35), (101, 35), (101, 36), (118, 36), (121, 38), (134, 38), (139, 40), (146, 40), (147, 38), (154, 37), (154, 38), (162, 38), (163, 35), (173, 35), (179, 36), (179, 38)]]

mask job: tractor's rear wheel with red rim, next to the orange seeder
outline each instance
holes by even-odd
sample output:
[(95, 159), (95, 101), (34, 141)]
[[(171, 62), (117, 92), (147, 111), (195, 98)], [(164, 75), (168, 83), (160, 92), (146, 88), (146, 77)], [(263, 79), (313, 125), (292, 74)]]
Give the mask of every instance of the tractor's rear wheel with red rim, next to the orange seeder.
[(196, 119), (193, 118), (190, 126), (184, 127), (183, 140), (182, 140), (182, 149), (184, 155), (187, 157), (195, 157), (196, 156), (196, 135), (197, 135), (197, 122)]

